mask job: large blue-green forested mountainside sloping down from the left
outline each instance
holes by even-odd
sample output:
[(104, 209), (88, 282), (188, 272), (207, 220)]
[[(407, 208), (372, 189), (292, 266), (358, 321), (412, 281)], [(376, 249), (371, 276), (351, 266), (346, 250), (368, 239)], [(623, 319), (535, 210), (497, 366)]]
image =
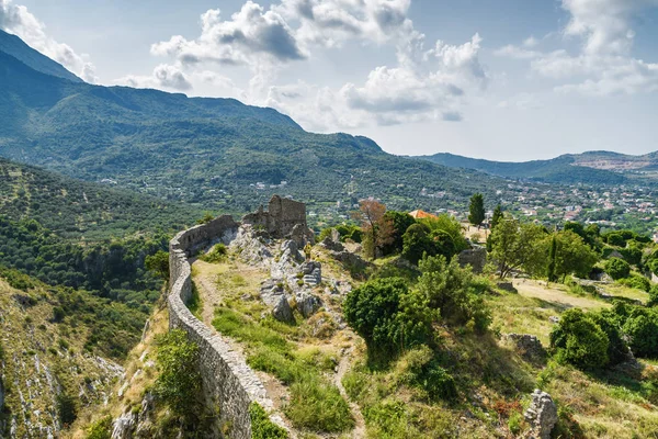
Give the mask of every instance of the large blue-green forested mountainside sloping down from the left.
[[(19, 52), (0, 50), (0, 156), (71, 177), (229, 212), (252, 211), (273, 193), (310, 205), (375, 196), (394, 209), (445, 209), (462, 206), (483, 180), (502, 184), (389, 155), (366, 137), (308, 133), (235, 99), (71, 81), (32, 68)], [(417, 205), (420, 193), (432, 196)]]

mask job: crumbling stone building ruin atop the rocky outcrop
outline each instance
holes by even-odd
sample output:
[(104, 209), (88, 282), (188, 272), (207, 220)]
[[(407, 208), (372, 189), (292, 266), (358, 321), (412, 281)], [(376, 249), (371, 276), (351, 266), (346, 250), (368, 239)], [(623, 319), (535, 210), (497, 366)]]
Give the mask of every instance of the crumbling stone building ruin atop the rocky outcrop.
[(274, 195), (268, 204), (266, 212), (263, 211), (263, 206), (260, 206), (258, 212), (246, 215), (242, 224), (262, 227), (273, 238), (285, 238), (292, 234), (296, 225), (308, 228), (306, 204)]

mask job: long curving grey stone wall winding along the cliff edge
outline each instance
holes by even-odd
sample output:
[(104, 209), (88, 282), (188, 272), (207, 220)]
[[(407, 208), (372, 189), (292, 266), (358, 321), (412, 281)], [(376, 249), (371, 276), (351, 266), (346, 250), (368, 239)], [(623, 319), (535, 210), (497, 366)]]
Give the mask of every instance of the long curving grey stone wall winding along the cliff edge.
[(190, 340), (198, 345), (204, 395), (211, 406), (219, 408), (216, 437), (219, 437), (222, 426), (230, 425), (230, 438), (249, 439), (249, 404), (258, 402), (268, 410), (272, 408), (272, 402), (243, 358), (185, 306), (192, 296), (192, 271), (188, 258), (214, 240), (230, 237), (237, 228), (238, 224), (225, 215), (181, 232), (169, 243), (169, 327), (185, 330)]

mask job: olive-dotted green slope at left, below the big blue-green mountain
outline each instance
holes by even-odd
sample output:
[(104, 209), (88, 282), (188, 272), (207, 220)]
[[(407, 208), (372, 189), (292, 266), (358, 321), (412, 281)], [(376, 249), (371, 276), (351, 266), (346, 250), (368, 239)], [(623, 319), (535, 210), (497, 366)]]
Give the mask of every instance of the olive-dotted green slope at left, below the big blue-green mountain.
[(35, 219), (59, 236), (89, 241), (173, 233), (203, 211), (0, 158), (0, 215)]

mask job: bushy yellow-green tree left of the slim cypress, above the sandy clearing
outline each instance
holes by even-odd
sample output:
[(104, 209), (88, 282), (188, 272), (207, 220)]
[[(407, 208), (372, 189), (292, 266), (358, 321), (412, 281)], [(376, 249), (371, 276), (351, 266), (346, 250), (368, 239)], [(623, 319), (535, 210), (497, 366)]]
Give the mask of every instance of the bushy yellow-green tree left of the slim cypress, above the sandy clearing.
[(491, 233), (491, 256), (498, 261), (500, 279), (519, 269), (540, 271), (543, 255), (538, 244), (544, 237), (543, 227), (504, 217)]

